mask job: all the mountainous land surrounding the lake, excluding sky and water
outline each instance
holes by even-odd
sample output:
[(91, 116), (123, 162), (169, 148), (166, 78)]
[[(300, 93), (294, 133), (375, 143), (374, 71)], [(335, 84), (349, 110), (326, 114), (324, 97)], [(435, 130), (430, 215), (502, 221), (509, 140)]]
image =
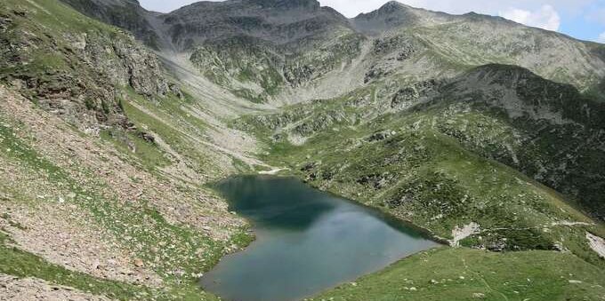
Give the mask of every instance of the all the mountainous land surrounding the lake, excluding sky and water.
[(308, 299), (605, 296), (603, 44), (395, 1), (2, 0), (0, 99), (0, 300), (219, 300), (199, 278), (254, 233), (212, 184), (258, 173), (440, 242)]

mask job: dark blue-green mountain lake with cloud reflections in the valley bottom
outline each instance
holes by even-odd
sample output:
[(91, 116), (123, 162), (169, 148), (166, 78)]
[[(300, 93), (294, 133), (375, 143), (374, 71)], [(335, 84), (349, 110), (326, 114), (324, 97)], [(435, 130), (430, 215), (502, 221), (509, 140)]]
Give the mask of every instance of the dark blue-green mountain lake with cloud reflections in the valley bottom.
[(413, 229), (294, 178), (229, 178), (217, 189), (256, 241), (222, 259), (202, 286), (225, 300), (309, 297), (436, 246)]

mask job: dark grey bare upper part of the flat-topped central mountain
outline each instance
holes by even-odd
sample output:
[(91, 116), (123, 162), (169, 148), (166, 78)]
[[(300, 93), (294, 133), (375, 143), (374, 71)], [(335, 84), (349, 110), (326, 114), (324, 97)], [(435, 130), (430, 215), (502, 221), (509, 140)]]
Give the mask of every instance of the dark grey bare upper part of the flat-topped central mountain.
[(200, 2), (160, 17), (179, 49), (205, 41), (249, 36), (273, 44), (296, 44), (347, 28), (338, 12), (314, 0)]

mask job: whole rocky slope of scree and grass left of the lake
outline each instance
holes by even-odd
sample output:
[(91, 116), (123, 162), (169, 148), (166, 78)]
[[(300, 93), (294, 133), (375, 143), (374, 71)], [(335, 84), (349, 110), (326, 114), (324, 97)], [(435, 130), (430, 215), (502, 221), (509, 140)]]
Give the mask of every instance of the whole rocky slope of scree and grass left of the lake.
[(202, 187), (257, 162), (214, 143), (236, 131), (123, 30), (57, 1), (0, 12), (0, 299), (214, 299), (199, 273), (250, 240)]

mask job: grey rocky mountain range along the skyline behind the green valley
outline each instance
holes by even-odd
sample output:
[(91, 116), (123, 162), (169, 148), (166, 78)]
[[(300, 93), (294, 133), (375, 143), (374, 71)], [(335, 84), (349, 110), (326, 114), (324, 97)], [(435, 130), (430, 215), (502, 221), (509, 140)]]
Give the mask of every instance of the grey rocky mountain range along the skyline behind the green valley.
[[(105, 6), (115, 5), (105, 0)], [(153, 25), (166, 57), (190, 56), (208, 80), (253, 102), (333, 98), (387, 75), (401, 83), (451, 77), (490, 63), (526, 67), (595, 94), (605, 77), (600, 44), (476, 13), (449, 15), (390, 2), (347, 20), (312, 0), (200, 2), (166, 14), (131, 11), (133, 20)], [(107, 20), (102, 13), (97, 18)]]

